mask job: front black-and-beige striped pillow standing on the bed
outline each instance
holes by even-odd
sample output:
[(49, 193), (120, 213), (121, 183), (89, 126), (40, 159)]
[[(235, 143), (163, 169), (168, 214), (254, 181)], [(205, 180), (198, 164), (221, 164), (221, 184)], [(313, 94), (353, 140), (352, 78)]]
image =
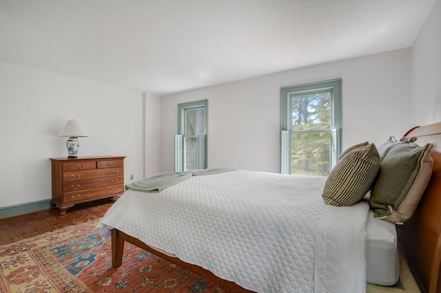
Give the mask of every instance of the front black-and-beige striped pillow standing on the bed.
[(353, 149), (327, 177), (322, 197), (331, 206), (352, 206), (365, 197), (380, 169), (375, 144)]

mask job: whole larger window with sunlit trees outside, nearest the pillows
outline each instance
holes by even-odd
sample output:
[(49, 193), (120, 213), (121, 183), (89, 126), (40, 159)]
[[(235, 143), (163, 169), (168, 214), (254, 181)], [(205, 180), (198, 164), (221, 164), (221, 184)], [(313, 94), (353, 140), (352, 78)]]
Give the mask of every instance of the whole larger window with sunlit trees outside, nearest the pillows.
[(341, 153), (341, 79), (283, 87), (280, 173), (328, 175)]

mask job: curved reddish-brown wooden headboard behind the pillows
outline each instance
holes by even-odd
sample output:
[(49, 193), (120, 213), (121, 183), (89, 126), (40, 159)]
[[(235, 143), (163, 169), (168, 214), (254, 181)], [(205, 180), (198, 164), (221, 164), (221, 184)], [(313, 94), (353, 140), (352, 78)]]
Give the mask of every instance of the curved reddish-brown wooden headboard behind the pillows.
[(431, 142), (433, 172), (416, 212), (397, 226), (398, 243), (422, 292), (441, 292), (441, 122), (416, 127), (404, 136)]

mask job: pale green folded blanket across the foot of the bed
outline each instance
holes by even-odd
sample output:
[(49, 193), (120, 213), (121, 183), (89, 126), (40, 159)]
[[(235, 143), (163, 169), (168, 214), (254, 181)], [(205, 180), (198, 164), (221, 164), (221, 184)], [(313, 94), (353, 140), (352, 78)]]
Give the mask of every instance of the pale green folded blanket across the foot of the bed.
[(135, 181), (125, 186), (125, 189), (134, 189), (136, 191), (145, 191), (147, 193), (159, 193), (165, 188), (183, 182), (192, 176), (218, 174), (234, 169), (215, 168), (215, 169), (198, 169), (184, 172), (170, 172), (148, 177), (144, 180)]

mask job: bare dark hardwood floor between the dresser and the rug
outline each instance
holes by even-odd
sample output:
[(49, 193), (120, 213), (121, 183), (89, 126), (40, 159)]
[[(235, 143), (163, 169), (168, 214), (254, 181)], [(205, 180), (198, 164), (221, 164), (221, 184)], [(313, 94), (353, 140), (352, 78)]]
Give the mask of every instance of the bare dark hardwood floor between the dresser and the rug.
[(100, 199), (76, 204), (62, 216), (58, 209), (50, 209), (0, 219), (0, 245), (103, 217), (112, 204), (110, 199)]

